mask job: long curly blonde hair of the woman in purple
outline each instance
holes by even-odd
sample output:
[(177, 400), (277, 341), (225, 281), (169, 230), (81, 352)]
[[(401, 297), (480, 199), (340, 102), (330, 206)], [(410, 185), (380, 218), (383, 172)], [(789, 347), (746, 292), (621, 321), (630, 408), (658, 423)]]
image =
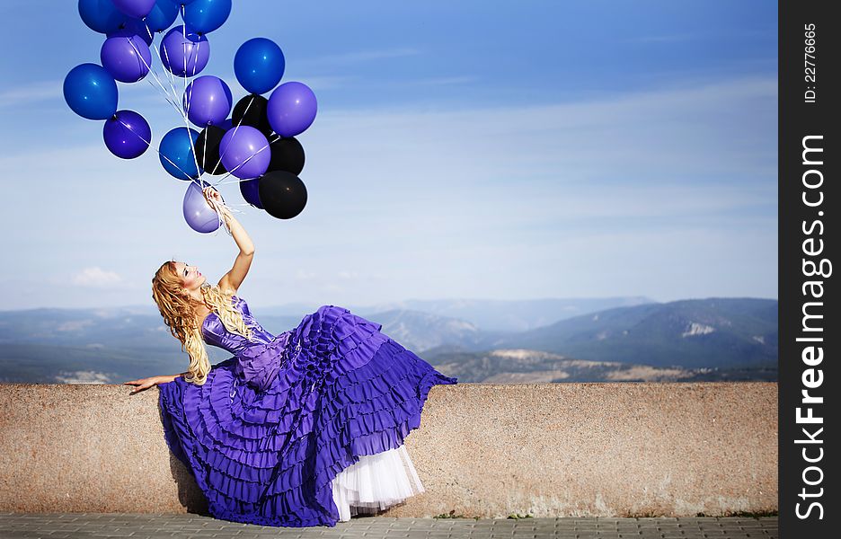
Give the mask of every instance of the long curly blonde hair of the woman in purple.
[[(251, 328), (245, 325), (243, 314), (235, 309), (232, 290), (222, 290), (218, 285), (200, 287), (204, 305), (217, 314), (228, 331), (252, 340)], [(181, 341), (181, 351), (190, 356), (190, 367), (184, 380), (190, 384), (204, 385), (210, 372), (210, 358), (205, 348), (196, 314), (196, 301), (184, 289), (175, 261), (165, 261), (152, 278), (152, 299), (158, 306), (164, 323), (173, 336)]]

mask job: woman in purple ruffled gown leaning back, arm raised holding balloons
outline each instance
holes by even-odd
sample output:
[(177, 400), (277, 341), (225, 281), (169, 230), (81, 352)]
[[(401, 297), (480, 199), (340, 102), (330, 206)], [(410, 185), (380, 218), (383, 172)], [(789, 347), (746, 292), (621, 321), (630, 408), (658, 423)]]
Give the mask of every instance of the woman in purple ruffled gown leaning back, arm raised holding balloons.
[[(456, 384), (348, 309), (322, 305), (272, 335), (237, 296), (251, 238), (205, 197), (239, 247), (216, 286), (166, 261), (152, 279), (164, 323), (190, 356), (175, 376), (132, 380), (160, 390), (167, 445), (208, 498), (211, 515), (263, 526), (335, 526), (424, 491), (403, 446), (435, 384)], [(204, 344), (234, 354), (210, 366)]]

